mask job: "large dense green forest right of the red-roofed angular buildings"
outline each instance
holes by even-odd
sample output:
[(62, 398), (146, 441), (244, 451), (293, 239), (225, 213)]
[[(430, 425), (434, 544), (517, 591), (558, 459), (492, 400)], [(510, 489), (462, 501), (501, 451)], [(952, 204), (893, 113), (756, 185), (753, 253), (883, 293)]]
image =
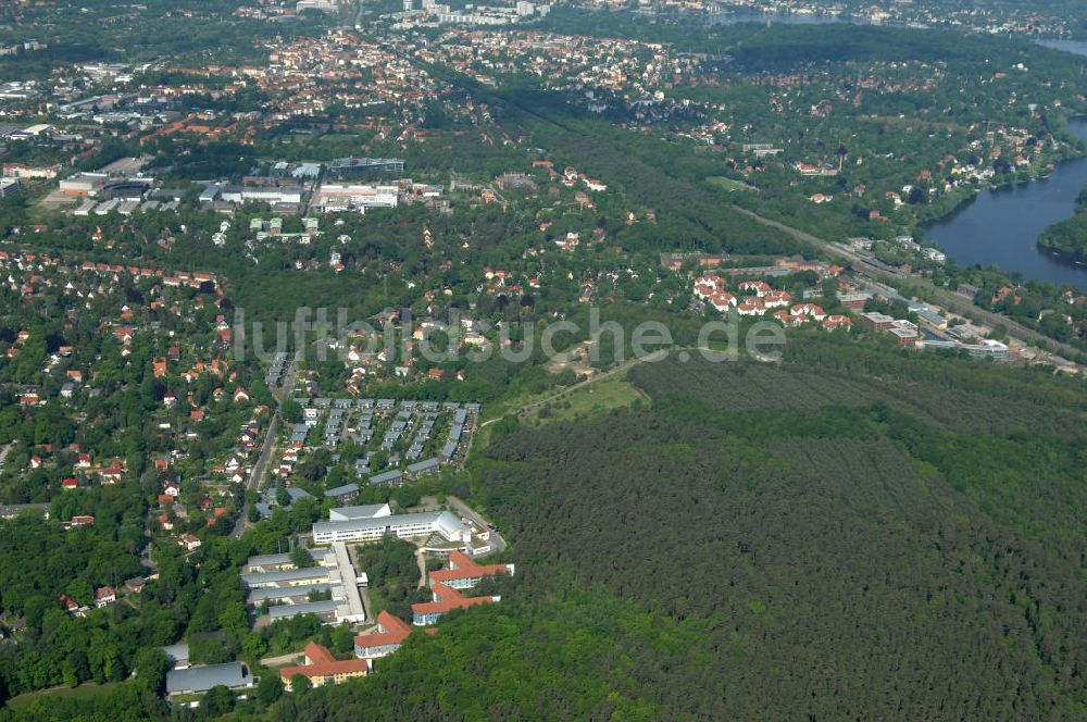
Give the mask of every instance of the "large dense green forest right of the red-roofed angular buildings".
[(475, 471), (503, 602), (276, 719), (1082, 718), (1082, 384), (789, 357), (642, 364), (650, 402), (502, 424)]

